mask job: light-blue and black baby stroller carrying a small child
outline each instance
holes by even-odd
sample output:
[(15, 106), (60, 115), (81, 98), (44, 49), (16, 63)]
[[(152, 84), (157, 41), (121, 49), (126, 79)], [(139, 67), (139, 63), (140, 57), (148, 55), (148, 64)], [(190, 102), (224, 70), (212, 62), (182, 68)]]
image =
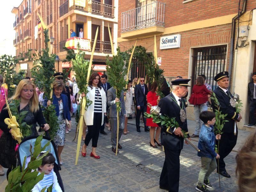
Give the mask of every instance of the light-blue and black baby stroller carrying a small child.
[[(18, 164), (20, 165), (21, 169), (22, 169), (22, 165), (23, 165), (23, 161), (24, 161), (25, 156), (27, 157), (26, 165), (30, 161), (30, 151), (29, 151), (30, 144), (32, 145), (32, 153), (33, 153), (33, 149), (34, 149), (35, 141), (36, 141), (37, 137), (38, 136), (29, 136), (29, 137), (24, 138), (21, 141), (20, 146), (19, 146), (18, 151), (17, 151)], [(41, 146), (43, 147), (49, 140), (50, 140), (49, 137), (43, 136), (43, 139), (41, 141)], [(64, 192), (64, 186), (63, 186), (63, 183), (62, 183), (62, 180), (61, 180), (61, 177), (60, 177), (60, 173), (59, 173), (59, 171), (61, 170), (59, 156), (58, 156), (58, 152), (57, 152), (57, 149), (55, 147), (55, 144), (52, 140), (51, 140), (50, 145), (45, 148), (45, 151), (48, 151), (48, 150), (50, 150), (50, 153), (52, 153), (52, 155), (55, 157), (55, 163), (54, 163), (53, 171), (56, 173), (60, 188)]]

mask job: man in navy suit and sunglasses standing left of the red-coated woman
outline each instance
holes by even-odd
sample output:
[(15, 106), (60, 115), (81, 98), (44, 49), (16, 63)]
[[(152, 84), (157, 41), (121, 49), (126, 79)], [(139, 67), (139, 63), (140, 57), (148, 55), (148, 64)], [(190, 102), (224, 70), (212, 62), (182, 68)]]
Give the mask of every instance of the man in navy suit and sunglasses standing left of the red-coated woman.
[(145, 85), (145, 77), (140, 77), (140, 83), (135, 85), (134, 96), (135, 103), (137, 107), (136, 113), (136, 128), (137, 132), (140, 132), (140, 114), (142, 113), (142, 118), (144, 122), (144, 131), (149, 132), (148, 126), (146, 126), (146, 118), (144, 117), (144, 112), (147, 112), (147, 99), (148, 87)]

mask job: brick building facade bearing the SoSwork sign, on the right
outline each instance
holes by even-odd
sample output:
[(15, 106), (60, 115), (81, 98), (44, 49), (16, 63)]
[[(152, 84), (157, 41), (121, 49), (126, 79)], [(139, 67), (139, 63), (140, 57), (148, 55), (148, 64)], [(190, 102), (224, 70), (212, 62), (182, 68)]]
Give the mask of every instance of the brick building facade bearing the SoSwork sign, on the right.
[[(247, 47), (236, 49), (236, 30), (237, 25), (253, 26), (255, 16), (253, 17), (254, 11), (252, 10), (255, 8), (255, 3), (255, 0), (241, 1), (240, 23), (238, 24), (238, 1), (119, 1), (118, 45), (122, 51), (125, 51), (131, 48), (137, 40), (137, 45), (142, 45), (148, 52), (153, 52), (156, 35), (157, 57), (161, 64), (160, 67), (164, 69), (164, 76), (169, 81), (176, 76), (182, 76), (190, 78), (190, 84), (193, 86), (196, 76), (205, 74), (207, 83), (215, 89), (216, 83), (213, 77), (220, 71), (229, 71), (231, 77), (234, 73), (246, 74), (243, 77), (242, 86), (236, 84), (236, 79), (231, 78), (231, 91), (240, 93), (240, 98), (244, 103), (241, 112), (243, 122), (239, 124), (239, 128), (242, 129), (244, 124), (248, 123), (249, 118), (246, 93), (247, 84), (251, 80), (250, 76), (254, 72), (255, 39), (253, 37)], [(249, 30), (249, 34), (254, 33), (255, 31)], [(160, 38), (168, 39), (173, 35), (177, 35), (177, 38), (180, 35), (180, 47), (160, 49), (160, 45), (163, 45)], [(240, 40), (239, 38), (238, 44)], [(235, 49), (238, 50), (236, 55)], [(248, 52), (253, 52), (253, 55), (251, 54), (251, 60), (246, 63), (245, 68), (248, 67), (248, 70), (244, 73), (243, 69), (240, 71), (235, 69), (239, 66), (237, 64), (239, 52), (246, 52), (246, 50), (247, 55)], [(244, 62), (243, 59), (241, 61)], [(194, 119), (192, 105), (189, 105), (187, 111), (188, 118)]]

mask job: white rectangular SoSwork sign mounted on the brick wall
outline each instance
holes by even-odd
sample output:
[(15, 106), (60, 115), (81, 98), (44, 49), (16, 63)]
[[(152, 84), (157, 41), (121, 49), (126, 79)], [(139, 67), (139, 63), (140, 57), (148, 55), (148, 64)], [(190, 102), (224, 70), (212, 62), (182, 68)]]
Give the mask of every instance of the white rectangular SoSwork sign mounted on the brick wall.
[(160, 37), (160, 49), (180, 47), (180, 34)]

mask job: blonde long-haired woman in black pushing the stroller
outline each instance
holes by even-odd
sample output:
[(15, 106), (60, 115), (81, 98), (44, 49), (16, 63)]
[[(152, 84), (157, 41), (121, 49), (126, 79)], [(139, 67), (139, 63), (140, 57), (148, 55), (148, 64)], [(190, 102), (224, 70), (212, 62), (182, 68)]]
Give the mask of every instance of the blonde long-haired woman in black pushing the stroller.
[[(10, 98), (10, 102), (13, 100), (20, 100), (20, 105), (18, 106), (19, 113), (27, 111), (25, 118), (22, 122), (26, 122), (30, 125), (30, 132), (22, 132), (23, 137), (30, 135), (38, 135), (36, 130), (36, 123), (39, 125), (44, 125), (43, 130), (47, 131), (49, 125), (46, 124), (42, 110), (38, 102), (38, 96), (36, 94), (36, 85), (29, 79), (23, 79), (18, 84), (14, 95)], [(16, 141), (12, 138), (11, 130), (8, 129), (7, 125), (4, 123), (5, 118), (10, 118), (6, 105), (4, 105), (0, 113), (0, 128), (4, 132), (0, 139), (0, 164), (6, 168), (9, 168), (6, 175), (8, 178), (9, 172), (12, 168), (16, 167), (16, 152), (14, 151)], [(21, 130), (22, 131), (22, 130)], [(8, 143), (9, 148), (6, 149), (6, 144)], [(8, 150), (7, 153), (6, 150)]]

